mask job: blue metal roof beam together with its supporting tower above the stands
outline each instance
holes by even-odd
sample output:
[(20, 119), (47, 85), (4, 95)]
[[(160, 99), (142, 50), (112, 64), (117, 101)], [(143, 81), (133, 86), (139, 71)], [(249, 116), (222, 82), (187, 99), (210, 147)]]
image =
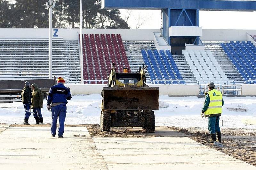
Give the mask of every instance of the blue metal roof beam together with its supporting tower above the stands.
[(163, 36), (179, 55), (187, 44), (200, 44), (199, 37), (169, 37), (171, 26), (199, 26), (199, 10), (256, 11), (256, 1), (237, 0), (102, 0), (103, 9), (163, 10)]

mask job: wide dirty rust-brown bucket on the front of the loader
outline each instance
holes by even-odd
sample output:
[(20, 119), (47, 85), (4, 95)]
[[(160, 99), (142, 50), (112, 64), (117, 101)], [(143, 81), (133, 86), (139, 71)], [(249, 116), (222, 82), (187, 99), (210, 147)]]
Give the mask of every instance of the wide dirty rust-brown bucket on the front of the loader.
[(103, 110), (158, 110), (158, 87), (104, 87)]

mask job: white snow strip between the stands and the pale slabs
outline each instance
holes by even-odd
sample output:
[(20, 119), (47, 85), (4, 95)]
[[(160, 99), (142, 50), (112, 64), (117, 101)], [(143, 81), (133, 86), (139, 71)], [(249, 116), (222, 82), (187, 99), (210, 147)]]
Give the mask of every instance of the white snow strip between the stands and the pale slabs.
[[(256, 119), (256, 97), (224, 97), (223, 114), (220, 117), (220, 125), (229, 128), (256, 128), (256, 125), (246, 125), (242, 119)], [(100, 95), (72, 96), (67, 104), (67, 116), (65, 124), (99, 124), (100, 122)], [(207, 127), (208, 118), (201, 118), (201, 108), (204, 98), (197, 97), (168, 97), (159, 96), (159, 110), (155, 110), (156, 126), (177, 127)], [(47, 110), (44, 101), (42, 115), (44, 123), (51, 123), (51, 112)], [(242, 108), (247, 112), (230, 111), (227, 108)], [(0, 123), (22, 124), (24, 120), (24, 108), (22, 103), (0, 104)], [(33, 115), (28, 121), (35, 123)]]

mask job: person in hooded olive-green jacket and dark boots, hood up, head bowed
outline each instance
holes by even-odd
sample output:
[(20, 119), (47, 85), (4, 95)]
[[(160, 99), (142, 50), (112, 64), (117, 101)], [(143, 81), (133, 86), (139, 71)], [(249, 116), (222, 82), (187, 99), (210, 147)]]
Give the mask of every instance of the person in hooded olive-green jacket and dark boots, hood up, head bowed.
[(33, 89), (32, 92), (32, 99), (31, 108), (33, 109), (34, 117), (36, 119), (36, 124), (43, 124), (43, 116), (41, 113), (41, 109), (43, 108), (43, 102), (44, 102), (44, 94), (41, 89), (39, 89), (36, 85), (36, 83), (31, 85), (31, 88)]

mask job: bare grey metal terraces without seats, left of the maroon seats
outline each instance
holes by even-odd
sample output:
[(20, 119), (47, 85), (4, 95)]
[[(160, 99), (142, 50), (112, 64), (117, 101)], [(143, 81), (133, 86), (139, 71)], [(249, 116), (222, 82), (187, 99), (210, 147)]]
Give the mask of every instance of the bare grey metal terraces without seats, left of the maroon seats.
[[(47, 38), (0, 38), (0, 79), (42, 79), (49, 74)], [(77, 41), (52, 40), (52, 75), (80, 82)]]

